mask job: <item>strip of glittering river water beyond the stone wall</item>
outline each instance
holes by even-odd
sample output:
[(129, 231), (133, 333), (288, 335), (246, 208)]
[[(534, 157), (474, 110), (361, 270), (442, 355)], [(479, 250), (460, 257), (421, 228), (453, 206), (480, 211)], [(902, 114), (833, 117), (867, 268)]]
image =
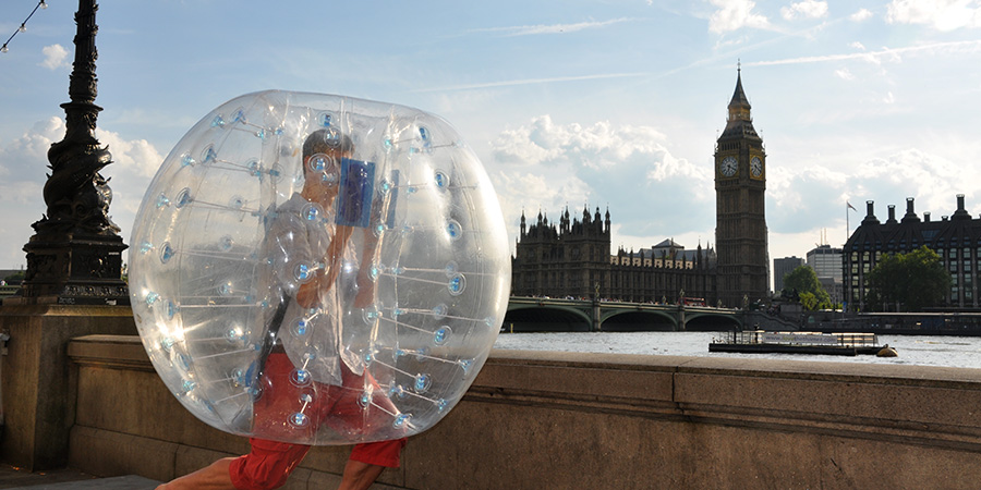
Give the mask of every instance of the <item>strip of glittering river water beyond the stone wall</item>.
[(879, 343), (895, 347), (899, 353), (898, 357), (710, 353), (708, 343), (714, 338), (722, 338), (723, 335), (723, 333), (718, 332), (501, 333), (497, 338), (494, 347), (522, 351), (768, 358), (981, 368), (981, 338), (977, 336), (879, 335)]

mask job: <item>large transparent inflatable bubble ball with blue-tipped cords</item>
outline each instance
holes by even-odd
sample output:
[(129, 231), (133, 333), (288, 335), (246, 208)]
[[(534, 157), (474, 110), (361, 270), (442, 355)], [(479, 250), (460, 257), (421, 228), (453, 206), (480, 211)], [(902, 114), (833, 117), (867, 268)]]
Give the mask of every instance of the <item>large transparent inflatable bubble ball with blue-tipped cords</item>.
[(443, 119), (263, 91), (204, 117), (133, 226), (130, 294), (167, 388), (220, 430), (412, 436), (460, 401), (508, 303), (480, 160)]

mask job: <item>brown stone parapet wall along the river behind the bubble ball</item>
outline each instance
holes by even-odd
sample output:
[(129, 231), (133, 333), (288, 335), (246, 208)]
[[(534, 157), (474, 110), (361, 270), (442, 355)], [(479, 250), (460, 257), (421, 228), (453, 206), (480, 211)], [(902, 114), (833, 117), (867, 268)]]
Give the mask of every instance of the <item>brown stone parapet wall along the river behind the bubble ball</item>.
[[(246, 450), (180, 406), (138, 338), (69, 355), (71, 466), (162, 480)], [(977, 369), (495, 351), (376, 488), (977, 488), (979, 409)], [(336, 485), (348, 451), (314, 449), (286, 488)]]

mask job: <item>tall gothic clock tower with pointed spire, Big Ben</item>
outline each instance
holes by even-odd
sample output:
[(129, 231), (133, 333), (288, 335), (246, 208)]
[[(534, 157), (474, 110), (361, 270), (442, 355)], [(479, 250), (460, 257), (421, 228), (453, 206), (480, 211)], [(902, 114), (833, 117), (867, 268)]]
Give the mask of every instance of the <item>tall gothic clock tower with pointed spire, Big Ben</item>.
[(764, 191), (766, 154), (753, 128), (740, 68), (726, 130), (715, 145), (715, 246), (724, 306), (741, 308), (770, 296)]

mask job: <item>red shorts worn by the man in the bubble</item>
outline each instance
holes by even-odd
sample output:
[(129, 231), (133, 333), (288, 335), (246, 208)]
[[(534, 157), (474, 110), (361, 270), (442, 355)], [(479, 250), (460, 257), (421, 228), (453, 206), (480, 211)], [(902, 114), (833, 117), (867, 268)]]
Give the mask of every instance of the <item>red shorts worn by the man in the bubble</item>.
[[(338, 430), (390, 424), (372, 420), (358, 404), (365, 385), (375, 384), (371, 375), (354, 375), (341, 364), (343, 385), (311, 382), (298, 387), (290, 381), (293, 369), (293, 364), (284, 354), (271, 354), (266, 362), (266, 372), (262, 380), (265, 390), (253, 406), (253, 433), (256, 437), (249, 440), (252, 452), (235, 458), (229, 467), (232, 485), (238, 489), (263, 490), (282, 486), (310, 451), (310, 445), (277, 442), (263, 439), (264, 437), (284, 440), (307, 438), (312, 441), (320, 424)], [(304, 394), (313, 395), (313, 400), (304, 404), (301, 402)], [(390, 408), (395, 411), (393, 406)], [(296, 412), (310, 417), (304, 425), (289, 422)], [(365, 464), (395, 468), (399, 466), (399, 456), (404, 445), (405, 438), (358, 444), (350, 457)]]

